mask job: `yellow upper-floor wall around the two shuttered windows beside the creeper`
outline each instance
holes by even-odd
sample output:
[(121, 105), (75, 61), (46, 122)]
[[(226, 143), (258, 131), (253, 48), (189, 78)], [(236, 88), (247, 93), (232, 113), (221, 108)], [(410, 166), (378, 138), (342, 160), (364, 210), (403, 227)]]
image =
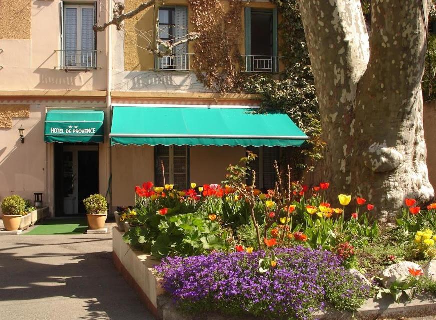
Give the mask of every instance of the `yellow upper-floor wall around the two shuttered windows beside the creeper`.
[[(143, 0), (125, 0), (126, 11), (137, 7)], [(228, 1), (223, 1), (224, 9), (228, 9)], [(166, 6), (171, 5), (184, 5), (189, 6), (187, 0), (169, 0), (165, 4)], [(262, 9), (272, 9), (275, 7), (274, 4), (270, 2), (250, 2), (247, 6), (252, 8), (262, 8)], [(191, 23), (190, 18), (192, 16), (192, 9), (188, 8), (188, 28), (189, 31), (194, 29), (194, 25)], [(146, 33), (151, 39), (151, 30), (153, 27), (153, 8), (150, 7), (140, 14), (136, 15), (132, 19), (125, 21), (125, 39), (124, 39), (124, 70), (126, 71), (147, 71), (154, 68), (154, 56), (148, 50), (146, 50), (149, 41), (145, 40), (143, 37), (138, 36), (137, 30), (141, 30)], [(281, 17), (279, 16), (279, 22)], [(244, 10), (242, 8), (241, 12), (241, 23), (242, 30), (240, 35), (240, 53), (245, 54), (245, 22), (244, 22)], [(141, 48), (142, 47), (142, 48)], [(145, 49), (144, 49), (145, 48)], [(189, 53), (194, 52), (194, 43), (189, 44)]]

